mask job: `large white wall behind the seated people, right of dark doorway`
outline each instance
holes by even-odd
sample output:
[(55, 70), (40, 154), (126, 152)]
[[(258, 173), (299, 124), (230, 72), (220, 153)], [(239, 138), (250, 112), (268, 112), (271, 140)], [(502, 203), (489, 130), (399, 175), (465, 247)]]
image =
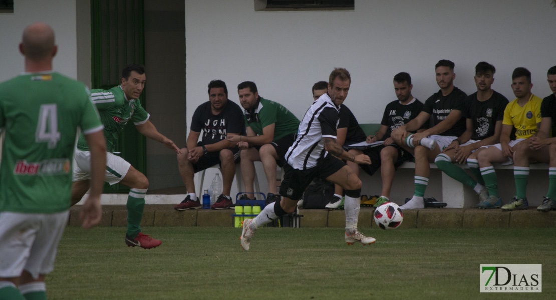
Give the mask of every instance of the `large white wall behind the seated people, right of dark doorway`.
[(512, 72), (528, 68), (533, 93), (550, 94), (554, 59), (550, 0), (358, 0), (353, 12), (255, 12), (252, 0), (186, 0), (187, 122), (207, 101), (207, 84), (222, 79), (239, 103), (237, 84), (254, 81), (261, 96), (301, 118), (311, 86), (334, 67), (349, 70), (346, 105), (359, 123), (380, 123), (395, 100), (392, 79), (408, 72), (413, 95), (438, 91), (434, 65), (452, 60), (455, 86), (476, 91), (474, 68), (497, 68), (493, 88), (508, 99)]

